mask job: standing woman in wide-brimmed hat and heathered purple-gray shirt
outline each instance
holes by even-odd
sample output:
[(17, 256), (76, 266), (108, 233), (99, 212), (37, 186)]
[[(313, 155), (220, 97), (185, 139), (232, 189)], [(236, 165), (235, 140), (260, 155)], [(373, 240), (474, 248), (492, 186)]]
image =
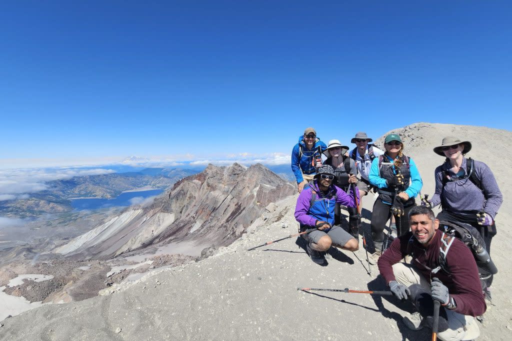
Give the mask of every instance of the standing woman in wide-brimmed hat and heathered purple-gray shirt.
[[(494, 219), (503, 196), (490, 168), (483, 162), (464, 157), (470, 150), (471, 142), (453, 136), (443, 138), (441, 145), (434, 148), (434, 153), (446, 160), (435, 170), (436, 190), (427, 203), (432, 207), (441, 204), (442, 211), (437, 219), (475, 227), (490, 254), (490, 242), (496, 235)], [(481, 274), (486, 285), (484, 293), (490, 300), (493, 275)]]

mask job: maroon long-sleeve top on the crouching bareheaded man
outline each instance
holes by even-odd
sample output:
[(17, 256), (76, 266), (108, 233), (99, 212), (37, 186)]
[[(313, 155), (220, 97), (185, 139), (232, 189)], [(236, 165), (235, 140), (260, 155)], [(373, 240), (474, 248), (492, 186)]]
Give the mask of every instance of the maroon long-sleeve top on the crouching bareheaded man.
[(446, 267), (450, 275), (443, 270), (431, 273), (439, 265), (439, 246), (441, 244), (441, 231), (437, 230), (433, 242), (423, 247), (416, 238), (409, 240), (412, 232), (396, 238), (378, 260), (380, 274), (386, 284), (395, 281), (393, 264), (400, 262), (407, 254), (413, 253), (411, 262), (427, 281), (437, 277), (447, 288), (457, 304), (456, 312), (463, 315), (479, 316), (485, 312), (485, 300), (478, 278), (478, 268), (471, 250), (460, 240), (455, 239), (446, 255)]

